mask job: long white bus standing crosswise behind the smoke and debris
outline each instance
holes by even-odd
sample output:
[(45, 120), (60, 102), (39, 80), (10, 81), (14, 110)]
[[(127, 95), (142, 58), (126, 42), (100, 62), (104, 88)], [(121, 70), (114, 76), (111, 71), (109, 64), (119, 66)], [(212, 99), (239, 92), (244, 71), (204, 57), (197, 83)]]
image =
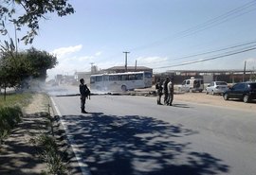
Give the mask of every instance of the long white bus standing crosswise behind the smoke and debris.
[(116, 92), (152, 87), (151, 72), (126, 72), (91, 75), (92, 91)]

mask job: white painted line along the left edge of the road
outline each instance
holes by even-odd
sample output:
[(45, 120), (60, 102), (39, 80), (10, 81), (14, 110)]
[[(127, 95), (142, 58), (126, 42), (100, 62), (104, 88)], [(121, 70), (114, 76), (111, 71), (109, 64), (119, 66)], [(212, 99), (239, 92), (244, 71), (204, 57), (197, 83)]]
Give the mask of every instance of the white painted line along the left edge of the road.
[(56, 103), (54, 102), (54, 100), (51, 96), (50, 96), (50, 100), (54, 106), (56, 113), (60, 116), (60, 121), (61, 121), (62, 125), (64, 126), (64, 131), (65, 131), (66, 137), (68, 139), (68, 142), (69, 142), (71, 148), (73, 149), (76, 159), (78, 161), (78, 164), (82, 170), (82, 175), (91, 175), (88, 165), (82, 163), (82, 156), (81, 156), (81, 151), (80, 151), (79, 147), (75, 144), (75, 141), (74, 141), (72, 135), (67, 133), (68, 130), (66, 128), (66, 125), (65, 125), (65, 122), (63, 119), (63, 115), (60, 113)]

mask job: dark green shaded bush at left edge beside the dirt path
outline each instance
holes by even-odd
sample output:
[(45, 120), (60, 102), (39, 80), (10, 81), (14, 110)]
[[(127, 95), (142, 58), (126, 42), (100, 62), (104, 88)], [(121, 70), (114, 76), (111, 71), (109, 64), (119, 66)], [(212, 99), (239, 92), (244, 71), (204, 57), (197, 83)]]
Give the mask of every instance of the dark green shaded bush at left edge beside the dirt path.
[(0, 145), (9, 136), (10, 131), (22, 120), (22, 110), (20, 107), (0, 108)]

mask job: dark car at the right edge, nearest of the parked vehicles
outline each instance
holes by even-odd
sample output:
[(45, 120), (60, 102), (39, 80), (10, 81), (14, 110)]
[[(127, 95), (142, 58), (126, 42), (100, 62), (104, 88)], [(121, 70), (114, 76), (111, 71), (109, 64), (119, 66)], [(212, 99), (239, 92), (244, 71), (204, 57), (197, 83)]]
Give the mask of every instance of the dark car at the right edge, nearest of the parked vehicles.
[(256, 82), (239, 82), (229, 88), (223, 94), (225, 100), (229, 98), (237, 98), (244, 100), (245, 103), (256, 99)]

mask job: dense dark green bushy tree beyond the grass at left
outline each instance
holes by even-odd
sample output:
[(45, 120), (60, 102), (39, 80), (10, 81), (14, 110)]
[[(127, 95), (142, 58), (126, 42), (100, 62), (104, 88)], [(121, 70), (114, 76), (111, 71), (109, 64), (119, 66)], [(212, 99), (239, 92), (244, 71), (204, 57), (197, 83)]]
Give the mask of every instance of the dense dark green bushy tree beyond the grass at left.
[(27, 79), (46, 80), (46, 70), (54, 68), (57, 58), (34, 47), (15, 54), (9, 52), (0, 56), (0, 84), (2, 87), (21, 87)]

